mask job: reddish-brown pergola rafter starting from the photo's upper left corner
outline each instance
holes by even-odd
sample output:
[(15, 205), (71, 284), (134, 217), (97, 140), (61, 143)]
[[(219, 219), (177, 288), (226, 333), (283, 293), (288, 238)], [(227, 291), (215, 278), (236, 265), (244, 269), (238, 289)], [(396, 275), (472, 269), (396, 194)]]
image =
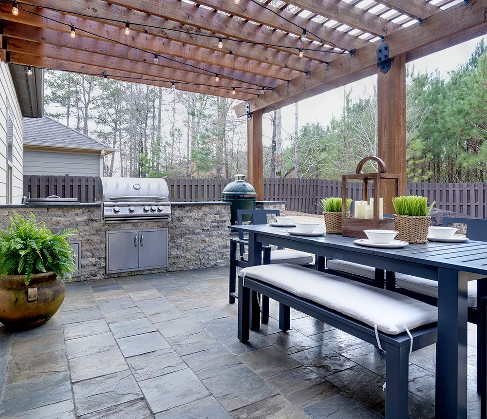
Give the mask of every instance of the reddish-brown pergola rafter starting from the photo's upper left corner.
[[(32, 8), (29, 8), (32, 10)], [(288, 80), (298, 76), (300, 73), (291, 69), (282, 68), (262, 61), (245, 59), (233, 54), (227, 54), (220, 51), (213, 51), (206, 48), (194, 46), (190, 43), (162, 38), (156, 35), (149, 35), (137, 31), (132, 31), (130, 38), (123, 34), (123, 28), (114, 24), (108, 24), (101, 21), (80, 19), (75, 15), (58, 13), (48, 9), (38, 8), (36, 13), (40, 16), (30, 13), (19, 13), (19, 16), (12, 15), (12, 8), (6, 5), (0, 5), (0, 17), (6, 21), (18, 22), (25, 25), (36, 26), (40, 28), (53, 29), (60, 32), (69, 33), (69, 26), (75, 23), (81, 30), (89, 31), (94, 34), (101, 34), (106, 38), (112, 39), (115, 43), (122, 42), (151, 51), (166, 54), (168, 56), (194, 60), (205, 63), (209, 66), (216, 65), (220, 67), (220, 72), (228, 68), (236, 71), (243, 71), (250, 74), (272, 77), (276, 79)], [(65, 24), (56, 23), (56, 21)], [(81, 31), (80, 31), (81, 32)], [(99, 39), (96, 35), (83, 32), (83, 36)]]

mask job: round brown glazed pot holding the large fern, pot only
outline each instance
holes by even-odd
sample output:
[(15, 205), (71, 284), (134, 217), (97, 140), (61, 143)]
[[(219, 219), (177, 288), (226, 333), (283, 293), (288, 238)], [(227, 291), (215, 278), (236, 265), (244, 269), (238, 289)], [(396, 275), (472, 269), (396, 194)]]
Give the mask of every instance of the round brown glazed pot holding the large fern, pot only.
[(0, 278), (0, 322), (15, 329), (29, 329), (54, 316), (66, 295), (64, 283), (54, 272), (32, 275), (25, 286), (23, 275)]

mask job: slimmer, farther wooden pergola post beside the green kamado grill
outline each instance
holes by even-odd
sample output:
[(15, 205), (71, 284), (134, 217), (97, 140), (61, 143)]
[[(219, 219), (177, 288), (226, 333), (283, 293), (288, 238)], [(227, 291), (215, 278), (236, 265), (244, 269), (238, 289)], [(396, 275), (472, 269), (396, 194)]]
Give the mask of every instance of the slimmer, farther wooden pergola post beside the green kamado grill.
[(252, 113), (247, 121), (247, 182), (257, 192), (257, 200), (264, 199), (264, 180), (262, 166), (262, 111)]

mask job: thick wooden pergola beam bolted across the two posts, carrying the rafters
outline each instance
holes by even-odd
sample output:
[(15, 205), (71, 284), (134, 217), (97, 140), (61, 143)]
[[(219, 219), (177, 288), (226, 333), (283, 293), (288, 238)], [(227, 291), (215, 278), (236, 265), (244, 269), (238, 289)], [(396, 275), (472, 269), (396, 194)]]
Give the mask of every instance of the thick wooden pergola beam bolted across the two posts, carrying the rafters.
[[(484, 26), (484, 9), (483, 1), (470, 1), (468, 5), (461, 3), (425, 19), (421, 26), (403, 28), (386, 38), (389, 44), (389, 56), (393, 58), (397, 55), (409, 54), (443, 38), (469, 31), (475, 26)], [(474, 33), (473, 30), (470, 32), (470, 34)], [(311, 71), (308, 76), (303, 75), (291, 80), (289, 85), (278, 86), (268, 95), (249, 100), (250, 111), (262, 109), (263, 112), (268, 112), (280, 108), (283, 104), (295, 103), (327, 91), (330, 84), (338, 87), (349, 83), (352, 79), (356, 79), (354, 76), (356, 73), (371, 67), (375, 68), (377, 46), (378, 44), (374, 43), (359, 48), (353, 57), (340, 57), (331, 62), (328, 68), (320, 67)], [(245, 114), (243, 104), (237, 105), (234, 109), (238, 116)]]

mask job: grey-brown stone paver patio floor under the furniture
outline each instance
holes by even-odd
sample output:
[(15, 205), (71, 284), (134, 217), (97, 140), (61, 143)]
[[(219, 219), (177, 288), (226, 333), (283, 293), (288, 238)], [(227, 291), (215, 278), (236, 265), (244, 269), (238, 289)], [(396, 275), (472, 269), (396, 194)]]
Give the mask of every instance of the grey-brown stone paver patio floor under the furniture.
[[(385, 357), (292, 311), (237, 340), (227, 268), (67, 284), (36, 329), (0, 326), (0, 418), (369, 419), (384, 415)], [(468, 335), (468, 418), (476, 333)], [(434, 346), (412, 354), (412, 418), (434, 416)]]

